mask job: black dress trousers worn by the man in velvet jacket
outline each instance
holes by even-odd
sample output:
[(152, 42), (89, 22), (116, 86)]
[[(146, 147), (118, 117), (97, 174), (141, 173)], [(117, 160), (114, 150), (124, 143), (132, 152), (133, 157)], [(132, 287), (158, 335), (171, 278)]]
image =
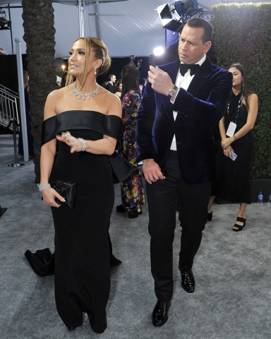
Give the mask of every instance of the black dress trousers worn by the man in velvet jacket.
[(179, 269), (191, 269), (207, 221), (211, 183), (186, 184), (176, 151), (170, 151), (163, 167), (166, 179), (146, 183), (149, 208), (150, 261), (157, 299), (169, 301), (173, 293), (172, 244), (179, 205), (181, 251)]

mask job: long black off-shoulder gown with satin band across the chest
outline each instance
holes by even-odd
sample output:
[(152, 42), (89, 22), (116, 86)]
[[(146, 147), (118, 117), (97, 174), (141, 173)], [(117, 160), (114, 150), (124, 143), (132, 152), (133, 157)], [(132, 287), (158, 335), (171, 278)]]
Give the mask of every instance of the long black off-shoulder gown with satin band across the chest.
[[(76, 138), (98, 140), (103, 135), (119, 139), (122, 121), (94, 111), (68, 111), (44, 121), (42, 144), (62, 131)], [(114, 206), (112, 168), (107, 155), (71, 154), (57, 141), (50, 179), (76, 182), (76, 206), (52, 208), (55, 229), (56, 309), (66, 326), (80, 326), (83, 312), (92, 330), (107, 328), (106, 306), (110, 289), (108, 230)]]

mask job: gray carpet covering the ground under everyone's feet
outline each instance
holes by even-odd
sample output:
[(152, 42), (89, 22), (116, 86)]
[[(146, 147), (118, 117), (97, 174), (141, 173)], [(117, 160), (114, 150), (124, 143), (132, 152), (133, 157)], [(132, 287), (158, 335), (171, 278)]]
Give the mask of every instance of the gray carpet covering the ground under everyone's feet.
[[(231, 230), (238, 206), (214, 205), (214, 217), (203, 232), (195, 257), (195, 293), (180, 286), (177, 223), (174, 242), (174, 297), (169, 321), (161, 328), (150, 317), (156, 298), (150, 274), (147, 207), (130, 220), (112, 213), (114, 254), (123, 263), (112, 268), (107, 330), (94, 333), (88, 320), (68, 332), (54, 304), (54, 277), (40, 278), (24, 257), (26, 249), (49, 247), (54, 231), (49, 209), (34, 183), (33, 162), (14, 162), (12, 136), (0, 136), (0, 338), (1, 339), (263, 339), (271, 338), (271, 206), (248, 206), (247, 225)], [(23, 162), (18, 159), (18, 162)], [(115, 185), (115, 204), (120, 203)], [(177, 215), (176, 215), (177, 217)]]

